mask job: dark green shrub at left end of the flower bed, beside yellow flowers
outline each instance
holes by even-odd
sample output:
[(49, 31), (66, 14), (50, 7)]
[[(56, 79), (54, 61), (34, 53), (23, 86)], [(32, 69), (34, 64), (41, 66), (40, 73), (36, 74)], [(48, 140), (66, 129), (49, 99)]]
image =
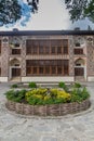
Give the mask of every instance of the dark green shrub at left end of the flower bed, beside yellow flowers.
[(22, 102), (25, 99), (26, 90), (10, 90), (5, 93), (8, 100), (12, 100), (14, 102)]

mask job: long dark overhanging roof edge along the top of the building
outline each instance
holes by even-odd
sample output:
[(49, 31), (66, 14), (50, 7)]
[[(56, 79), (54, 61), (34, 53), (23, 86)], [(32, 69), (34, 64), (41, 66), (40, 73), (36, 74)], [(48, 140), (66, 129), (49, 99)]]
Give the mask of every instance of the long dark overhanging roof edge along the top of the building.
[(0, 31), (0, 36), (43, 36), (43, 35), (94, 35), (94, 30), (12, 30)]

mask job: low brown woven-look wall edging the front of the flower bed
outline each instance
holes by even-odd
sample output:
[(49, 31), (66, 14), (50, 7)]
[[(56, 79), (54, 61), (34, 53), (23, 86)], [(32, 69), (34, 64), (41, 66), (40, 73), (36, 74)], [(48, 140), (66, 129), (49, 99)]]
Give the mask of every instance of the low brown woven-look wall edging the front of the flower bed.
[(23, 115), (38, 115), (38, 116), (63, 116), (67, 114), (78, 113), (85, 111), (90, 107), (90, 100), (84, 100), (81, 103), (65, 103), (65, 104), (53, 104), (53, 105), (28, 105), (24, 103), (16, 103), (8, 101), (5, 103), (10, 111), (15, 111)]

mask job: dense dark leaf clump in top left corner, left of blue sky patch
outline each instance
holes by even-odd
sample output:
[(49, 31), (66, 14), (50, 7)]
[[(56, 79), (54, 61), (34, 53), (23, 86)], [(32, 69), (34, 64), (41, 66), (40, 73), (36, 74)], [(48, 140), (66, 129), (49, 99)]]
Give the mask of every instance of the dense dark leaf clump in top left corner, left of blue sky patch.
[(13, 24), (22, 16), (21, 5), (17, 0), (0, 1), (0, 26)]

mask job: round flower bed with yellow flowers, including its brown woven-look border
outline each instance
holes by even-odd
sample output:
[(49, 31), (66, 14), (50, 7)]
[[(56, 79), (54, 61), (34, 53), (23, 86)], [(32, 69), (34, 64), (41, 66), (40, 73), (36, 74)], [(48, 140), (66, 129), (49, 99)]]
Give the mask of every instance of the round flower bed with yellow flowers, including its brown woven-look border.
[[(66, 88), (66, 89), (65, 89)], [(84, 111), (90, 106), (86, 88), (75, 84), (70, 89), (36, 88), (31, 90), (10, 90), (6, 107), (25, 115), (62, 116)]]

